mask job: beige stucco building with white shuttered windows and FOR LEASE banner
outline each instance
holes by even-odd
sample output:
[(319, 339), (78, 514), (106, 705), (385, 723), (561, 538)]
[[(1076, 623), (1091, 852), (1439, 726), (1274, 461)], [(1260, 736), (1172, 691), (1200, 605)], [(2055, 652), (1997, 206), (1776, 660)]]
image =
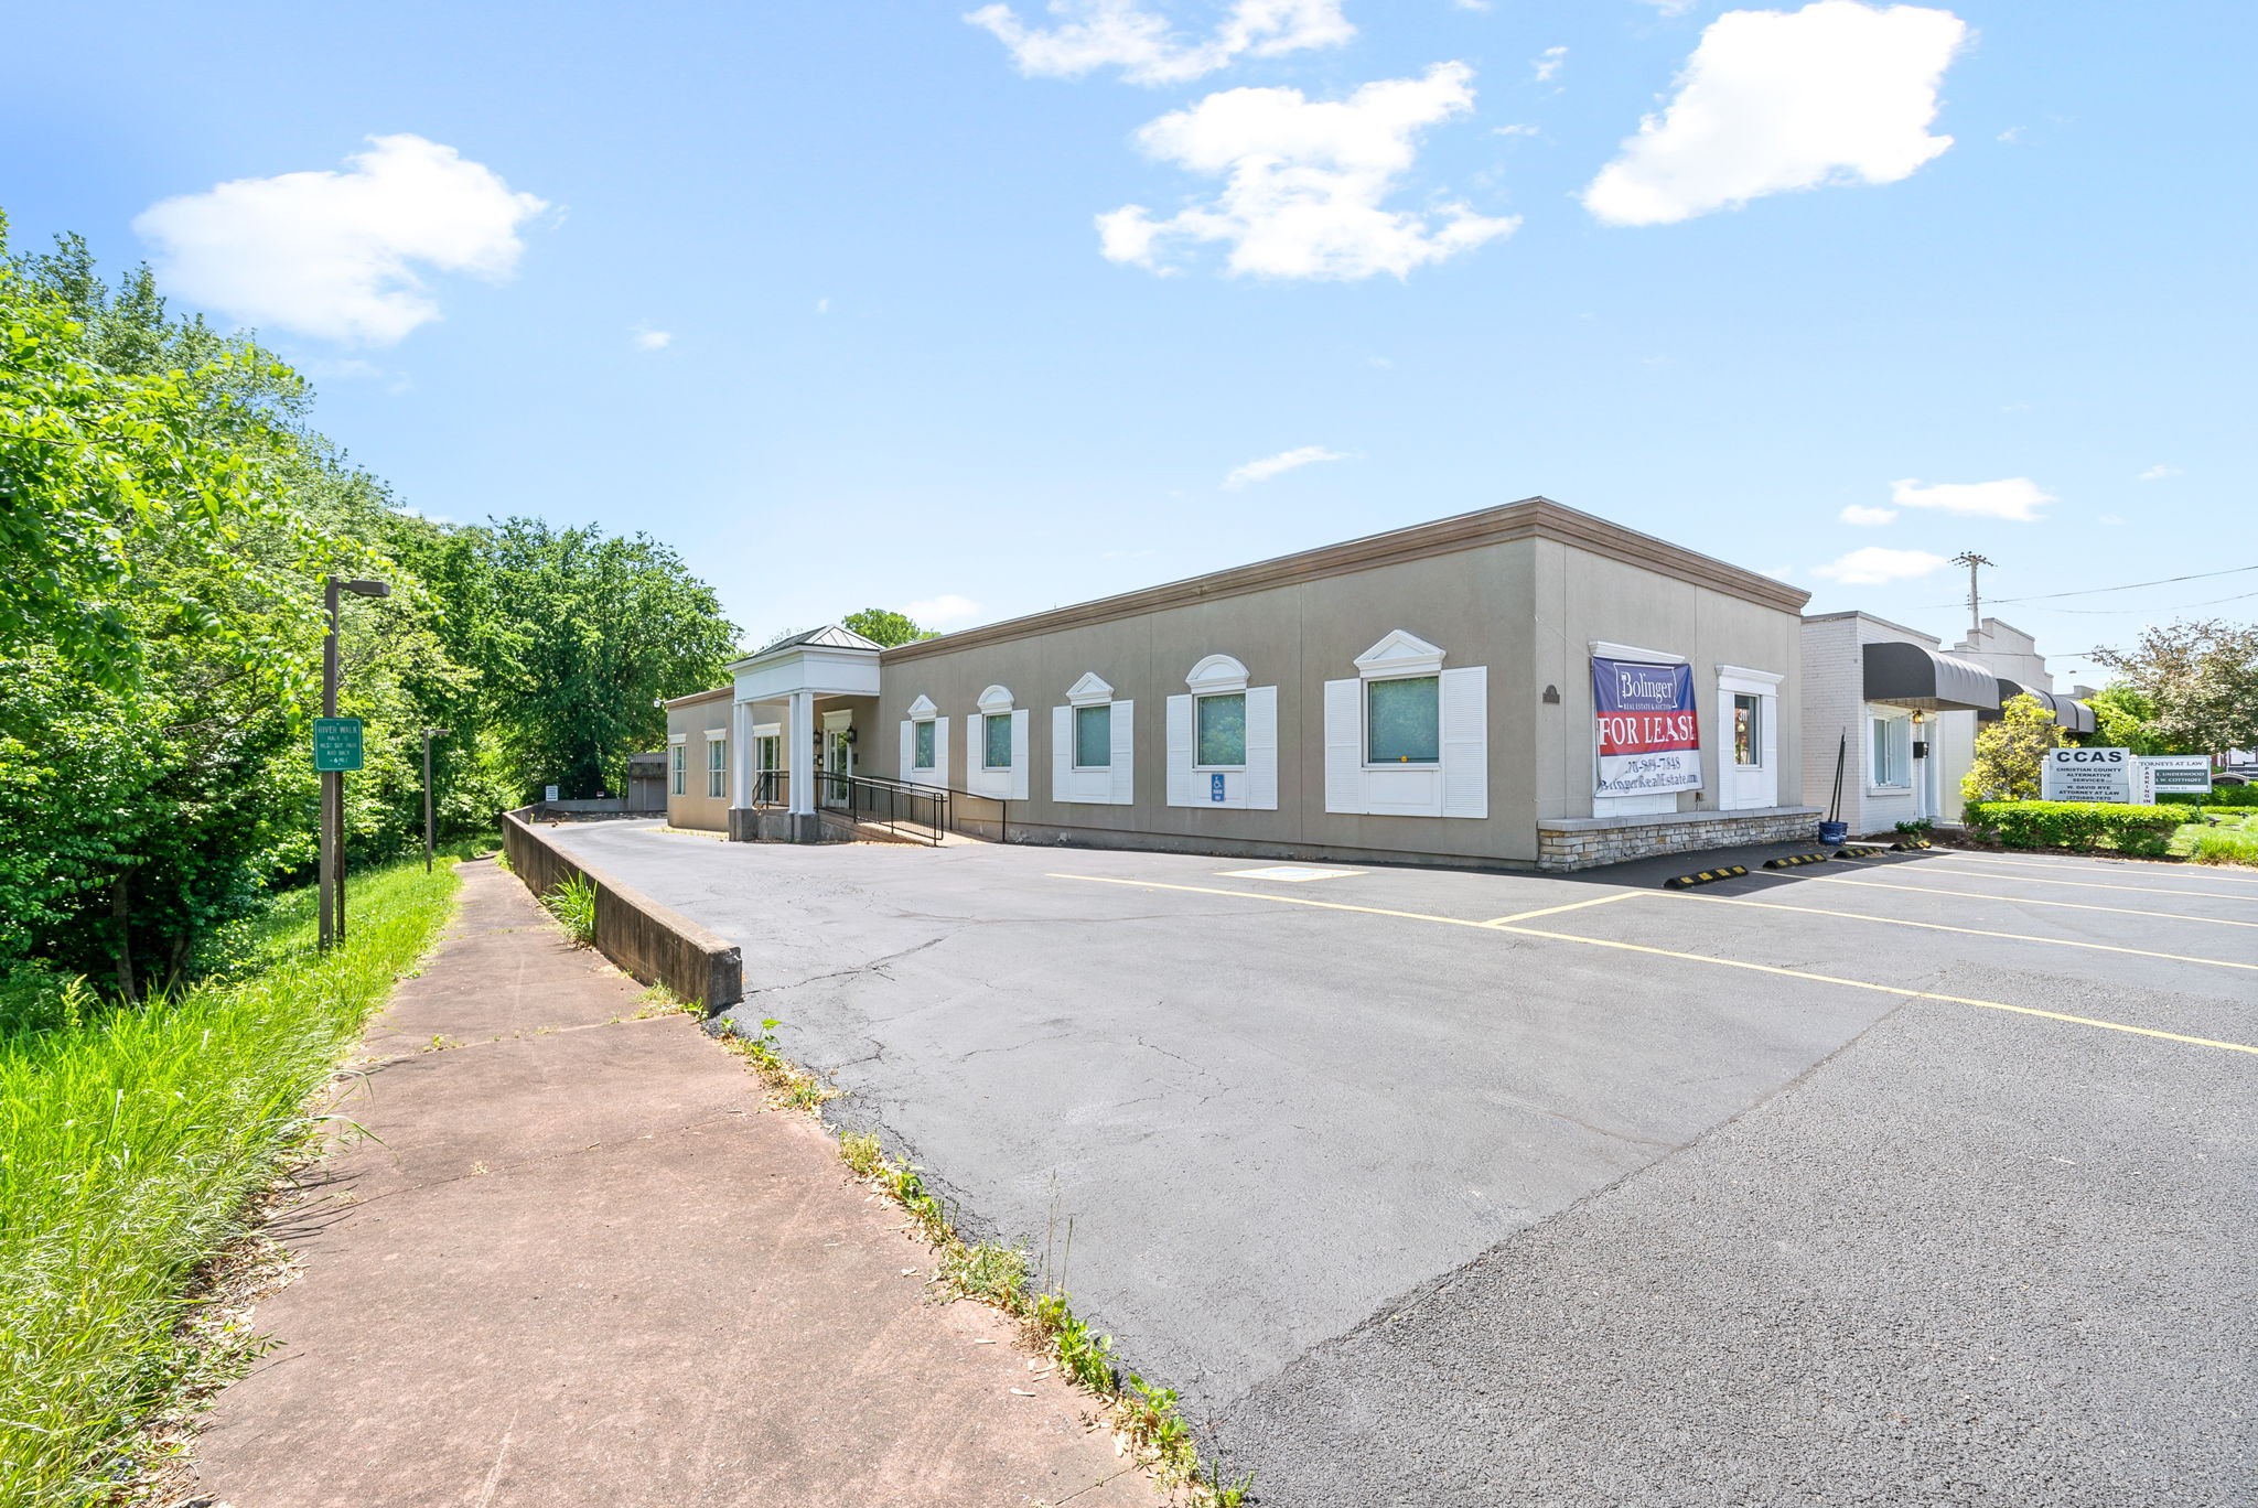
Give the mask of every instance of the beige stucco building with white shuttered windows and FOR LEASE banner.
[(1809, 838), (1804, 600), (1529, 499), (883, 652), (817, 630), (671, 704), (673, 747), (725, 745), (671, 813), (813, 840), (820, 768), (1012, 842), (1569, 869)]

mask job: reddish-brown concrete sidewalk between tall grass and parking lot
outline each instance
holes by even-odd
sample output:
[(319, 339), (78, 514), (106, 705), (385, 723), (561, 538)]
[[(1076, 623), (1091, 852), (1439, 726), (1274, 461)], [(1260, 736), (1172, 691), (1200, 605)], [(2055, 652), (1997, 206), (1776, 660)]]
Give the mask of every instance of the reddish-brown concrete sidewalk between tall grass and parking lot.
[[(1009, 1321), (492, 862), (368, 1036), (199, 1440), (233, 1508), (1152, 1506)], [(443, 1045), (434, 1047), (434, 1038)], [(458, 1043), (458, 1045), (445, 1045)], [(905, 1273), (903, 1269), (917, 1269)]]

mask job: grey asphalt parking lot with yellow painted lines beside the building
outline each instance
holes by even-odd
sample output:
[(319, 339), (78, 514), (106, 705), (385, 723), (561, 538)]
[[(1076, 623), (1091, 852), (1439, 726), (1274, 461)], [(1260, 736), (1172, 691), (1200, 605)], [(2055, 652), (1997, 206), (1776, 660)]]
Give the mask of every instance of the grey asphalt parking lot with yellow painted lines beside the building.
[(1262, 1503), (2258, 1499), (2258, 876), (553, 835)]

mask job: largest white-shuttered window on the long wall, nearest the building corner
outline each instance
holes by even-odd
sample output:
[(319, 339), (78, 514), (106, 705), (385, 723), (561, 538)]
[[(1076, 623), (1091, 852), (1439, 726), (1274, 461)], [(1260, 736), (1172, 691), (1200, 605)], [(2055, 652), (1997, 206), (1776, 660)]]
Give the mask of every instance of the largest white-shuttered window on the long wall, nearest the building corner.
[(1490, 815), (1490, 668), (1445, 670), (1407, 630), (1325, 682), (1325, 810), (1371, 817)]

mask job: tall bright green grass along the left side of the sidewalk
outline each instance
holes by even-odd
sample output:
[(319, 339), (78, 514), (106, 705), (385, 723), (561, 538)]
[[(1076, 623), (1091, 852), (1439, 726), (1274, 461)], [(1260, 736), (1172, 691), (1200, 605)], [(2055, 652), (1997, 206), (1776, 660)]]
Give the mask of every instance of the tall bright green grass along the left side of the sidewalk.
[(84, 1503), (190, 1354), (194, 1269), (314, 1131), (305, 1106), (436, 937), (456, 887), (422, 860), (357, 876), (314, 955), (285, 896), (233, 977), (0, 1036), (0, 1503)]

